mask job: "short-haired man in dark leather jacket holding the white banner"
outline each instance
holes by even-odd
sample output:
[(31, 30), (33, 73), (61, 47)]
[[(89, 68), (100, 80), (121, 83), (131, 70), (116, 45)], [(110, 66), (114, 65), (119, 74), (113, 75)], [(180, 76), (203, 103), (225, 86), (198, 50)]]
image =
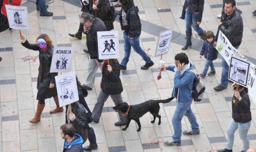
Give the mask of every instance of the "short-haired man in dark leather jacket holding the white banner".
[[(240, 13), (236, 9), (235, 0), (227, 0), (223, 20), (219, 23), (218, 32), (215, 36), (214, 47), (216, 47), (219, 31), (228, 38), (234, 48), (238, 49), (243, 38), (244, 24)], [(228, 63), (222, 58), (222, 79), (219, 86), (214, 87), (216, 91), (222, 91), (228, 86)]]

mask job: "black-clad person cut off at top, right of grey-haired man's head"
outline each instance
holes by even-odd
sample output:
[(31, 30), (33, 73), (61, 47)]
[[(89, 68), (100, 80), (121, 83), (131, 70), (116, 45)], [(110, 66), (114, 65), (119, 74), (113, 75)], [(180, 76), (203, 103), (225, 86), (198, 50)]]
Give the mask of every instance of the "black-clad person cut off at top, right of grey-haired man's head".
[(113, 22), (110, 21), (110, 5), (109, 0), (98, 0), (97, 5), (93, 4), (95, 17), (100, 18), (108, 31), (114, 29)]

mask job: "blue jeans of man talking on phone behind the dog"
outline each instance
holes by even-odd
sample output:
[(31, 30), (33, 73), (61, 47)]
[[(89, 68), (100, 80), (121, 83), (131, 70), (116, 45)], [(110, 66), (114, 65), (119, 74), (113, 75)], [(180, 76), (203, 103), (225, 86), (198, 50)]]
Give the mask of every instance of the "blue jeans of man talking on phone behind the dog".
[(191, 124), (192, 131), (193, 132), (200, 131), (199, 125), (197, 124), (197, 118), (190, 107), (191, 103), (192, 103), (192, 100), (187, 103), (178, 102), (175, 113), (172, 116), (172, 125), (174, 129), (174, 134), (172, 136), (172, 139), (176, 142), (181, 141), (181, 134), (182, 134), (181, 119), (184, 115), (187, 116), (187, 119)]

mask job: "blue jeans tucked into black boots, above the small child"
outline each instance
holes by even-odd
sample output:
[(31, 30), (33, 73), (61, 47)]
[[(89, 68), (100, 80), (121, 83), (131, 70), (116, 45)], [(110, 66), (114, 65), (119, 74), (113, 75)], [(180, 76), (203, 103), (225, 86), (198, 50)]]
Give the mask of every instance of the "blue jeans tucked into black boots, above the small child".
[(192, 33), (192, 26), (199, 36), (204, 36), (204, 31), (197, 25), (198, 14), (191, 12), (189, 9), (186, 12), (186, 31)]

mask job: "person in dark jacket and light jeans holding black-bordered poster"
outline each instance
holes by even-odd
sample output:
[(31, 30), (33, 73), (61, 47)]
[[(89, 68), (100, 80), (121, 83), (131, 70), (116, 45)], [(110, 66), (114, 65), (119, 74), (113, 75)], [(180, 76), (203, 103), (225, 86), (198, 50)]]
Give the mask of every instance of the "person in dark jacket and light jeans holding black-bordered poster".
[(233, 83), (234, 96), (232, 98), (232, 119), (228, 127), (228, 139), (225, 149), (218, 150), (218, 152), (232, 152), (234, 143), (234, 133), (238, 129), (240, 139), (243, 141), (243, 150), (241, 152), (246, 152), (250, 148), (250, 142), (248, 140), (247, 134), (252, 123), (252, 115), (250, 111), (250, 98), (248, 89), (244, 86), (240, 86)]

